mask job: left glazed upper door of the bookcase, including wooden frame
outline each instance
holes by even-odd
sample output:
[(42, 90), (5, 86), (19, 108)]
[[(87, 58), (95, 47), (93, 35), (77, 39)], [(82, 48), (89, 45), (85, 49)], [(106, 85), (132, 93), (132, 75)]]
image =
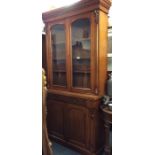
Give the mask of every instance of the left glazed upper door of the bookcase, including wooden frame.
[(47, 63), (49, 88), (67, 89), (67, 32), (66, 22), (48, 25)]

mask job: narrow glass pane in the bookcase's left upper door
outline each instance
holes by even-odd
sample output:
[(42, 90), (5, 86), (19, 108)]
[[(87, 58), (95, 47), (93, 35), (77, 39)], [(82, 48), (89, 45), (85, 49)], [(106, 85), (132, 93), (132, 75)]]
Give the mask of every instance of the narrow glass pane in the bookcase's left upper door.
[(66, 86), (66, 36), (64, 25), (52, 27), (53, 84)]

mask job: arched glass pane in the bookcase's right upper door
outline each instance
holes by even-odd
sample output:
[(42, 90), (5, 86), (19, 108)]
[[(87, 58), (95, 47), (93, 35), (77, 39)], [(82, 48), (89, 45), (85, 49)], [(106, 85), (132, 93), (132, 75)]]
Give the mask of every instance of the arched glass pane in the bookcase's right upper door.
[(72, 23), (73, 87), (90, 88), (90, 20)]

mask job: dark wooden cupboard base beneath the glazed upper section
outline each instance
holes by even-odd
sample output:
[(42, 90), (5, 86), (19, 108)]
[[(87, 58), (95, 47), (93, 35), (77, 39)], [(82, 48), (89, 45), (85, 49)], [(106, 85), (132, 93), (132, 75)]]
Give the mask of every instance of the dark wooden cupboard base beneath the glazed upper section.
[(96, 107), (100, 100), (94, 103), (86, 98), (48, 94), (47, 102), (51, 140), (86, 155), (96, 155), (103, 150), (103, 126)]

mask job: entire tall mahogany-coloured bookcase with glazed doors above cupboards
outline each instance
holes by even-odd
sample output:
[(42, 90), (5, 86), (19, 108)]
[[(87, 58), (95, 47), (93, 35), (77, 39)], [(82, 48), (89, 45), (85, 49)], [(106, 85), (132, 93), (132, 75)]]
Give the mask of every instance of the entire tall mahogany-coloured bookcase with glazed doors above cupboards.
[(107, 79), (110, 6), (109, 0), (81, 0), (42, 14), (49, 137), (82, 154), (103, 150), (99, 105)]

